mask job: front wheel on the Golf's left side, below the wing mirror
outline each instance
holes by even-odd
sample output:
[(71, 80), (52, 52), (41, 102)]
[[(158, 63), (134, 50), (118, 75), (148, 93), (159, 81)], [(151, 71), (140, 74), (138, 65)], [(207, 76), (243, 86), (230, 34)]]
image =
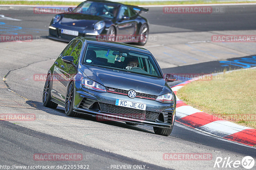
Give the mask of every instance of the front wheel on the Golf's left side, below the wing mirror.
[(75, 98), (74, 82), (72, 81), (68, 86), (68, 91), (65, 100), (65, 113), (70, 117), (77, 117), (79, 114), (73, 111), (73, 103)]

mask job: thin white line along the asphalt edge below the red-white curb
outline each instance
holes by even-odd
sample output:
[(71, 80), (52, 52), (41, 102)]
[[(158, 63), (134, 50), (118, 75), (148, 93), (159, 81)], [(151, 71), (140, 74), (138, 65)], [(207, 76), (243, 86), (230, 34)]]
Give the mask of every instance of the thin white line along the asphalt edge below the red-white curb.
[[(212, 138), (215, 138), (215, 139), (219, 139), (219, 140), (222, 140), (222, 141), (226, 141), (226, 142), (230, 142), (230, 143), (233, 143), (233, 144), (236, 144), (236, 145), (241, 145), (241, 146), (246, 146), (246, 147), (250, 147), (250, 148), (254, 148), (252, 146), (248, 146), (248, 145), (244, 145), (244, 144), (241, 144), (241, 143), (238, 143), (238, 142), (234, 142), (234, 141), (231, 141), (231, 140), (227, 140), (227, 139), (223, 139), (219, 136), (216, 136), (216, 135), (213, 135), (209, 132), (205, 132), (205, 131), (202, 131), (200, 129), (192, 129), (192, 128), (189, 128), (188, 126), (186, 125), (183, 125), (183, 124), (180, 124), (180, 123), (175, 123), (174, 126), (178, 126), (178, 127), (181, 127), (181, 128), (184, 128), (186, 130), (189, 130), (189, 131), (193, 131), (193, 132), (196, 132), (196, 133), (199, 133), (201, 135), (205, 135), (205, 136), (208, 136), (208, 137), (212, 137)], [(172, 135), (171, 135), (172, 136)], [(218, 149), (218, 148), (216, 148)], [(254, 148), (255, 149), (255, 148)]]

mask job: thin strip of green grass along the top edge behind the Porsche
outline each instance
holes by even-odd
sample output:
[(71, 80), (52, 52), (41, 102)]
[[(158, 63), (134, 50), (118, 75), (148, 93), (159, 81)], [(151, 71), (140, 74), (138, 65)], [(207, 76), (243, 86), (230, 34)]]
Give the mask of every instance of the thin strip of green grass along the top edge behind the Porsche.
[[(58, 1), (0, 1), (2, 5), (70, 5), (77, 6), (81, 2), (58, 2)], [(180, 4), (222, 4), (222, 3), (256, 3), (256, 1), (153, 1), (153, 2), (121, 2), (122, 4), (128, 5), (180, 5)]]

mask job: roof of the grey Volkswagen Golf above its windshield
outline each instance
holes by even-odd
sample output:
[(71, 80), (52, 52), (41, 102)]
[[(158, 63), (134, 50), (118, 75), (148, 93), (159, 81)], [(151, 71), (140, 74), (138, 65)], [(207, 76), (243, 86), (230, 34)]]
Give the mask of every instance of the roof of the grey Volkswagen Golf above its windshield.
[(126, 49), (131, 49), (135, 51), (140, 51), (143, 53), (151, 54), (147, 49), (138, 47), (138, 46), (132, 46), (130, 44), (115, 42), (115, 41), (109, 41), (109, 40), (103, 40), (103, 39), (94, 39), (94, 38), (87, 38), (87, 37), (77, 37), (76, 39), (83, 39), (84, 41), (92, 44), (100, 44), (100, 45), (109, 45), (109, 46), (115, 46), (115, 47), (121, 47)]

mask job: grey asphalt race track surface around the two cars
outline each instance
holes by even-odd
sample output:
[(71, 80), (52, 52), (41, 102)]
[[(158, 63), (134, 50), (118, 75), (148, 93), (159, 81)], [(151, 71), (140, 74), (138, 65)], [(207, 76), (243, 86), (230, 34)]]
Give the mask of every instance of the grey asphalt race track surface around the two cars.
[[(249, 60), (256, 56), (255, 42), (214, 43), (211, 36), (256, 35), (256, 5), (217, 7), (224, 8), (225, 12), (163, 14), (163, 7), (150, 7), (147, 14), (142, 14), (150, 23), (145, 48), (154, 54), (164, 73), (202, 74), (255, 66)], [(67, 117), (62, 107), (45, 108), (41, 102), (45, 80), (35, 76), (46, 74), (67, 45), (46, 38), (53, 16), (36, 14), (33, 7), (0, 6), (1, 35), (33, 36), (31, 42), (0, 42), (0, 74), (4, 78), (0, 82), (0, 113), (36, 116), (34, 121), (0, 121), (0, 169), (4, 169), (3, 165), (10, 168), (49, 165), (55, 169), (62, 169), (59, 167), (64, 165), (89, 165), (89, 169), (125, 169), (122, 165), (131, 165), (131, 169), (224, 169), (213, 168), (217, 157), (230, 157), (233, 161), (241, 161), (244, 156), (256, 158), (254, 147), (179, 123), (174, 125), (170, 136), (164, 137), (155, 135), (149, 126), (99, 122), (84, 115)], [(241, 64), (240, 60), (249, 62)], [(82, 154), (83, 159), (36, 160), (33, 156), (40, 153), (76, 153)], [(212, 158), (164, 160), (164, 153), (205, 153)], [(13, 169), (25, 169), (15, 166)]]

